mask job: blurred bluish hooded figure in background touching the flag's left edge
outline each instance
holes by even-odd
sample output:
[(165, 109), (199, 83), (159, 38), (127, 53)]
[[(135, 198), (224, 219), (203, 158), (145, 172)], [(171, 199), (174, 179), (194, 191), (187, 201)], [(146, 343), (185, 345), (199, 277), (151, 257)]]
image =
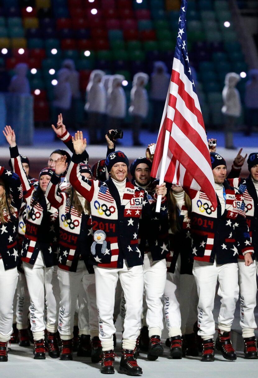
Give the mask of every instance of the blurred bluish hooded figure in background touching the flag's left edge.
[(151, 132), (156, 132), (161, 124), (170, 77), (164, 62), (154, 62), (150, 77), (150, 98), (153, 107)]

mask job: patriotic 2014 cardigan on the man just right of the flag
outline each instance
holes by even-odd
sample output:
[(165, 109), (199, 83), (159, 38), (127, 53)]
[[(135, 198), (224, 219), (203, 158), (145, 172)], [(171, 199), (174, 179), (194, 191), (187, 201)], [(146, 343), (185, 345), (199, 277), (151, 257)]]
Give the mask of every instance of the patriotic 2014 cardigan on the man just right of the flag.
[[(192, 253), (195, 260), (218, 264), (237, 262), (238, 255), (253, 253), (245, 219), (243, 194), (224, 181), (226, 207), (213, 209), (204, 192), (192, 200)], [(239, 243), (239, 245), (238, 245)]]

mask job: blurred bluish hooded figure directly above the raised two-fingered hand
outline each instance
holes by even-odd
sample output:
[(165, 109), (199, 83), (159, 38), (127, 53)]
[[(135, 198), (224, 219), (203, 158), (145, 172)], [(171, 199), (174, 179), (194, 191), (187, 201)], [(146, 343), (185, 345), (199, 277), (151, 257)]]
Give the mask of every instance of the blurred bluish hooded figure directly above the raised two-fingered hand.
[[(61, 68), (57, 72), (57, 85), (54, 86), (54, 120), (56, 122), (57, 116), (62, 113), (63, 119), (68, 118), (68, 113), (71, 108), (72, 91), (69, 83), (70, 70)], [(54, 123), (54, 122), (53, 122)]]

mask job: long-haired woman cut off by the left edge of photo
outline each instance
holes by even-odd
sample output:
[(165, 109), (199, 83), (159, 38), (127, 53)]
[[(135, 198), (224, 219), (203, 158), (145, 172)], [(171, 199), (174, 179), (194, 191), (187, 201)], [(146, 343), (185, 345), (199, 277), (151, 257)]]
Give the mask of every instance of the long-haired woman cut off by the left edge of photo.
[(0, 362), (8, 361), (13, 300), (18, 280), (17, 227), (22, 206), (19, 176), (0, 166)]

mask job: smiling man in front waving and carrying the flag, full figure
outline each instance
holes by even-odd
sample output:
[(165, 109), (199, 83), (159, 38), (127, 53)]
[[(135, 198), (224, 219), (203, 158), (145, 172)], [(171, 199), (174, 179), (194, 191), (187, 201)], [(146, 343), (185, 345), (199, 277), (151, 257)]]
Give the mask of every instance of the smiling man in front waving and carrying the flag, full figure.
[[(97, 308), (99, 311), (99, 338), (103, 349), (102, 370), (114, 373), (113, 322), (114, 297), (120, 279), (126, 300), (126, 314), (122, 342), (120, 370), (128, 375), (142, 374), (133, 352), (141, 327), (143, 295), (143, 261), (138, 248), (139, 218), (150, 223), (154, 233), (155, 202), (141, 187), (127, 179), (128, 159), (124, 152), (111, 152), (106, 159), (110, 177), (107, 181), (87, 180), (79, 172), (81, 154), (86, 147), (82, 132), (73, 138), (74, 154), (67, 177), (71, 185), (90, 202), (93, 232), (101, 230), (107, 245), (91, 251), (89, 263), (94, 265)], [(165, 185), (156, 186), (156, 194), (165, 198)], [(154, 226), (152, 226), (154, 224)], [(153, 228), (153, 229), (152, 229)], [(157, 230), (158, 232), (158, 230)]]

